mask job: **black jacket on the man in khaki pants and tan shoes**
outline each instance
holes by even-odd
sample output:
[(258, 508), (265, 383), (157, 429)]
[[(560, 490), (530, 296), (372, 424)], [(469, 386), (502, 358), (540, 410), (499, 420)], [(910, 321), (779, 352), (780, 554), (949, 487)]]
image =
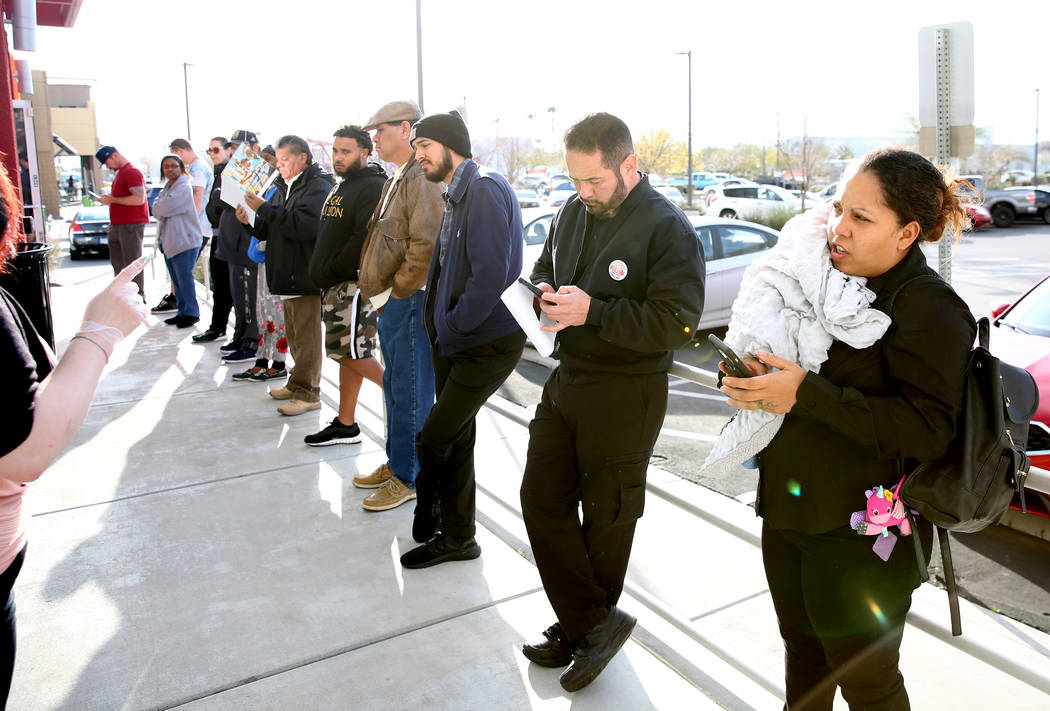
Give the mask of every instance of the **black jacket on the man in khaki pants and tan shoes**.
[(273, 183), (273, 194), (255, 213), (255, 226), (248, 228), (259, 242), (266, 242), (266, 283), (278, 296), (318, 294), (310, 278), (310, 257), (317, 242), (321, 206), (335, 186), (332, 175), (311, 163), (292, 183), (284, 177)]

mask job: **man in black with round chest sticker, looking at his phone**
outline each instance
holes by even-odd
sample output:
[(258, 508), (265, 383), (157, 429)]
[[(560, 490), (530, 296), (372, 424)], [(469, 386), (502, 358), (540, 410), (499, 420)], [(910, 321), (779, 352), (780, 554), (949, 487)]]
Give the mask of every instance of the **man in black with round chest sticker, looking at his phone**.
[(558, 333), (561, 364), (529, 425), (521, 486), (558, 622), (522, 651), (541, 666), (570, 665), (561, 682), (576, 691), (634, 628), (616, 601), (667, 407), (667, 370), (699, 322), (705, 272), (692, 225), (638, 173), (623, 121), (594, 113), (576, 123), (565, 161), (578, 194), (555, 216), (531, 274), (555, 321), (545, 330)]

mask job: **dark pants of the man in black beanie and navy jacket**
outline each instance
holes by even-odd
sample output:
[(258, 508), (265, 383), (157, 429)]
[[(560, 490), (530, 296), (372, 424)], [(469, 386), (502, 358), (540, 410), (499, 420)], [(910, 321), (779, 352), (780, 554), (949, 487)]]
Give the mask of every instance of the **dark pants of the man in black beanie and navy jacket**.
[(438, 503), (444, 534), (475, 534), (475, 416), (514, 370), (524, 346), (525, 334), (516, 331), (448, 356), (433, 348), (438, 399), (416, 443), (416, 510), (429, 516), (432, 504)]

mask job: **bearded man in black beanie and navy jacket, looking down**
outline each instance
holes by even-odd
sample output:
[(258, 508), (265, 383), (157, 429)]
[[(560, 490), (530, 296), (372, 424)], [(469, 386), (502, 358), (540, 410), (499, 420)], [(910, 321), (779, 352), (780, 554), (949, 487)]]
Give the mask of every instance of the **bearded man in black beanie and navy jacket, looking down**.
[(475, 541), (475, 417), (518, 364), (525, 334), (500, 299), (522, 271), (522, 215), (503, 175), (470, 160), (470, 135), (456, 111), (420, 119), (416, 161), (448, 186), (430, 258), (423, 322), (430, 339), (437, 402), (416, 449), (413, 537), (405, 568), (478, 558)]

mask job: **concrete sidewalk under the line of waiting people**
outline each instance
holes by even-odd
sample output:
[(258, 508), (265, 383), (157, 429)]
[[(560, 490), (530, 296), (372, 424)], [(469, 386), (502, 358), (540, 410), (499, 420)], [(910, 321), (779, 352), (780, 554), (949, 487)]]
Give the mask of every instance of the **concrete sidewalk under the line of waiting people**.
[[(104, 284), (52, 291), (60, 351)], [(518, 503), (527, 413), (503, 402), (511, 417), (479, 418), (481, 559), (402, 570), (411, 506), (366, 513), (351, 483), (385, 458), (379, 389), (362, 391), (363, 443), (308, 447), (334, 416), (334, 383), (319, 413), (280, 417), (267, 385), (230, 380), (250, 363), (220, 364), (218, 343), (193, 332), (150, 317), (26, 497), (8, 708), (779, 707), (782, 652), (749, 507), (650, 470), (622, 603), (638, 627), (568, 694), (558, 670), (520, 653), (553, 621)], [(964, 637), (945, 641), (943, 593), (916, 597), (902, 650), (914, 707), (1050, 707), (1050, 637), (964, 605)], [(995, 653), (974, 655), (985, 646)]]

